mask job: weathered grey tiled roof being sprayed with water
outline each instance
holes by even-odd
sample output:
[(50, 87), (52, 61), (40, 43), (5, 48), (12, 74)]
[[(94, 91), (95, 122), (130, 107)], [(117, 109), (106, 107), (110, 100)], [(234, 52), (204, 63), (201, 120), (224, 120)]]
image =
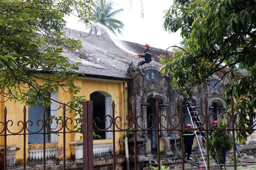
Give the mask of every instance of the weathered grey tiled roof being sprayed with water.
[[(107, 32), (102, 32), (99, 36), (91, 34), (88, 37), (84, 37), (87, 33), (73, 29), (66, 29), (65, 32), (69, 38), (81, 40), (83, 48), (82, 53), (79, 51), (68, 53), (67, 49), (64, 49), (63, 55), (69, 57), (71, 63), (81, 62), (78, 73), (85, 74), (87, 77), (112, 80), (130, 79), (127, 73), (129, 65), (133, 62), (137, 66), (137, 63), (142, 60), (136, 53), (143, 52), (143, 45), (121, 41), (119, 43), (121, 46), (126, 46), (128, 50), (134, 52), (130, 53), (117, 46)], [(161, 49), (151, 49), (153, 58), (157, 58), (156, 54), (161, 54), (159, 51), (163, 52), (162, 54), (165, 52)], [(157, 60), (154, 63), (160, 65)]]

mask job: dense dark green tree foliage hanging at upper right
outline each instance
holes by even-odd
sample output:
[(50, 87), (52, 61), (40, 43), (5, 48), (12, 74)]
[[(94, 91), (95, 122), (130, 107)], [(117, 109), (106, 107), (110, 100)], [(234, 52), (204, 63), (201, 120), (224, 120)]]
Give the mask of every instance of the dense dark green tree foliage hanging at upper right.
[[(164, 29), (180, 29), (183, 46), (162, 58), (161, 72), (174, 88), (204, 87), (212, 75), (229, 79), (226, 101), (235, 97), (240, 127), (250, 127), (256, 108), (256, 6), (254, 0), (175, 0), (166, 12)], [(232, 80), (232, 81), (230, 81)], [(246, 130), (251, 134), (252, 130)], [(239, 136), (246, 138), (244, 130)]]

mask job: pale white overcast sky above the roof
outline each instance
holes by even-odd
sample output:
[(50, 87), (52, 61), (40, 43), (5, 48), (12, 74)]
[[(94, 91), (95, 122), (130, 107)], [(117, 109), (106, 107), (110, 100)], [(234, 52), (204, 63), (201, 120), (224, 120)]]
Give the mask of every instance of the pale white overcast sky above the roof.
[[(182, 40), (180, 32), (170, 34), (163, 29), (164, 11), (172, 5), (172, 0), (111, 1), (114, 3), (113, 10), (123, 9), (123, 12), (114, 17), (125, 25), (122, 35), (117, 35), (120, 40), (143, 45), (148, 43), (150, 46), (160, 49), (179, 45)], [(73, 16), (67, 17), (67, 27), (85, 31), (84, 24), (78, 22), (78, 18)]]

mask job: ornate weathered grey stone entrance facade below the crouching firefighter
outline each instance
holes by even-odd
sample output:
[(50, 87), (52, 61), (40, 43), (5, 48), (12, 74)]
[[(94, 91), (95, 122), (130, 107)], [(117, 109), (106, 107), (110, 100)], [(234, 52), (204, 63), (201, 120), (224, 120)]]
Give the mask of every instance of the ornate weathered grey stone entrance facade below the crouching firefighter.
[[(152, 122), (154, 122), (154, 115), (156, 114), (154, 102), (156, 99), (160, 101), (159, 114), (164, 115), (161, 117), (160, 124), (168, 128), (177, 124), (177, 120), (172, 116), (179, 112), (178, 104), (180, 99), (183, 100), (183, 96), (178, 90), (172, 89), (170, 85), (171, 78), (168, 75), (161, 75), (159, 69), (160, 66), (153, 62), (139, 66), (138, 69), (131, 63), (128, 69), (128, 74), (134, 78), (128, 81), (129, 110), (133, 110), (132, 103), (136, 101), (136, 116), (141, 116), (137, 123), (143, 129), (150, 128), (153, 124)], [(215, 112), (216, 114), (210, 118), (210, 121), (218, 118), (218, 114), (225, 110), (225, 103), (221, 96), (226, 84), (226, 81), (220, 81), (217, 76), (213, 76), (209, 79), (207, 90), (200, 91), (195, 89), (192, 102), (198, 113), (204, 113), (204, 98), (207, 98), (209, 112)], [(156, 154), (156, 133), (154, 131), (141, 131), (137, 135), (138, 143), (140, 143), (140, 148), (138, 148), (140, 149), (139, 155), (143, 157), (139, 159), (139, 162), (140, 160), (148, 161)], [(161, 154), (173, 153), (175, 135), (177, 135), (175, 131), (162, 131), (160, 133)], [(134, 146), (133, 139), (130, 140), (129, 144)], [(142, 149), (141, 147), (144, 148)], [(144, 163), (140, 162), (140, 164)]]

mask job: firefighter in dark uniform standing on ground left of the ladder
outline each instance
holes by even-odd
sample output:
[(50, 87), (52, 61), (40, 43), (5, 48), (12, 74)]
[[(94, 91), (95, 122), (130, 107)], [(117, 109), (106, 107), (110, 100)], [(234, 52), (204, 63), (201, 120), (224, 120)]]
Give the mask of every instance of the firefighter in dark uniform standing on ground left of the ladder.
[(191, 129), (191, 125), (186, 124), (185, 131), (183, 132), (184, 153), (185, 153), (185, 158), (187, 157), (187, 160), (190, 160), (189, 156), (192, 151), (192, 145), (195, 137), (195, 131), (192, 131), (190, 129)]

